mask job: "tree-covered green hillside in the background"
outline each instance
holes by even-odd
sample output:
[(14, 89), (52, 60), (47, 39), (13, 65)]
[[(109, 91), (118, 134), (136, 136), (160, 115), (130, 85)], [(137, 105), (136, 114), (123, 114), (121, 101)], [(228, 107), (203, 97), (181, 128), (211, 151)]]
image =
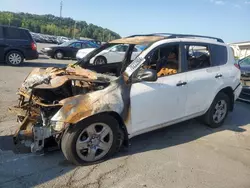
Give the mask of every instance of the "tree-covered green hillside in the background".
[[(74, 30), (75, 22), (76, 28)], [(120, 38), (120, 35), (85, 21), (75, 21), (72, 18), (60, 18), (51, 14), (36, 15), (29, 13), (13, 13), (0, 11), (0, 24), (13, 25), (27, 28), (32, 32), (60, 35), (66, 37), (75, 36), (93, 38), (101, 41)]]

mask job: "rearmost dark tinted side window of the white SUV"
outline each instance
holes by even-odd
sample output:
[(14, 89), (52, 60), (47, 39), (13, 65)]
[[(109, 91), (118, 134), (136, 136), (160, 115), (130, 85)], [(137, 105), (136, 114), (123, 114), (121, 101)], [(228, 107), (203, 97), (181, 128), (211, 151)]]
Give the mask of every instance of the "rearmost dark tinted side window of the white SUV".
[(224, 65), (227, 63), (227, 48), (220, 45), (211, 45), (212, 65)]

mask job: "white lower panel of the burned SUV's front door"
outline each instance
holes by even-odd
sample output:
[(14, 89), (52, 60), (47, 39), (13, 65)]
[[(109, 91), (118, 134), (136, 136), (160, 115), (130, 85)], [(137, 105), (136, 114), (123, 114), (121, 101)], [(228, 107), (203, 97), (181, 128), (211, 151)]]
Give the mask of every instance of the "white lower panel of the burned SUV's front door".
[(132, 132), (147, 129), (185, 116), (186, 73), (159, 78), (156, 82), (140, 82), (131, 88)]

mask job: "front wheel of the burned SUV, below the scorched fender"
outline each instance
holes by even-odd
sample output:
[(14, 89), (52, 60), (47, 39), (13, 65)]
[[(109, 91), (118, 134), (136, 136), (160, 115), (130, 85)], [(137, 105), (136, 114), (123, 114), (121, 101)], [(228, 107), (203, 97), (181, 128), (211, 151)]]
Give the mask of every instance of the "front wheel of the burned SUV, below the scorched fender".
[(109, 115), (72, 125), (63, 135), (61, 149), (65, 158), (75, 165), (89, 165), (112, 156), (120, 148), (119, 126)]

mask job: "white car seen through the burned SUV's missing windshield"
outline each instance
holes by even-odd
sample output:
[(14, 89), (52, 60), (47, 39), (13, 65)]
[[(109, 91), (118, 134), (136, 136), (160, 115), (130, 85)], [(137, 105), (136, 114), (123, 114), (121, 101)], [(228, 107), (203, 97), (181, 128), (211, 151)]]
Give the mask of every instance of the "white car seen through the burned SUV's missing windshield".
[[(140, 47), (141, 46), (134, 47), (131, 60), (134, 60), (142, 52), (142, 49)], [(100, 53), (98, 53), (97, 55), (95, 55), (93, 58), (91, 58), (90, 64), (100, 65), (100, 64), (121, 62), (124, 59), (127, 49), (128, 49), (127, 44), (119, 44), (119, 45), (115, 45), (110, 48), (107, 48), (101, 51)], [(82, 59), (93, 50), (95, 50), (95, 48), (78, 50), (76, 54), (77, 60)]]

